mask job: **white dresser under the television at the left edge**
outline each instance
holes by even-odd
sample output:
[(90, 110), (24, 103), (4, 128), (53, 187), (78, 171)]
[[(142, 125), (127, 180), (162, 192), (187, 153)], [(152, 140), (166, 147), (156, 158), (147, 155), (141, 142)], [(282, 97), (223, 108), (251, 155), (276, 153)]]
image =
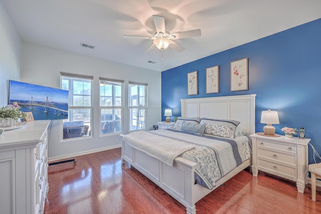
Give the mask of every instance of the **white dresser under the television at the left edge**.
[(27, 122), (0, 135), (0, 213), (43, 213), (49, 188), (49, 123)]

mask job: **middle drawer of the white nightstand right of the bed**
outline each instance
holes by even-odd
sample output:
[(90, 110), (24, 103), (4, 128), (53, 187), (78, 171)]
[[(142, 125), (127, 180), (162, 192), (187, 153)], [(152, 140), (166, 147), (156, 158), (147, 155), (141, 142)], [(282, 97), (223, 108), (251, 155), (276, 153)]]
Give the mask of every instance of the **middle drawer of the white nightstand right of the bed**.
[(257, 156), (264, 157), (270, 160), (278, 161), (292, 166), (297, 166), (295, 154), (284, 154), (277, 151), (266, 150), (263, 148), (257, 148)]

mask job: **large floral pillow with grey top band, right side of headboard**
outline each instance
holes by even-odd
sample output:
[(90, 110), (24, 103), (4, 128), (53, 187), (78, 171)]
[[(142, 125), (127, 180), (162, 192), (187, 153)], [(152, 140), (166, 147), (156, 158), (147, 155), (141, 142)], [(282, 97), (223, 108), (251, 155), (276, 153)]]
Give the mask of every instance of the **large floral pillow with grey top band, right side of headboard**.
[(202, 118), (200, 124), (205, 124), (205, 134), (234, 138), (236, 127), (240, 122), (236, 120)]

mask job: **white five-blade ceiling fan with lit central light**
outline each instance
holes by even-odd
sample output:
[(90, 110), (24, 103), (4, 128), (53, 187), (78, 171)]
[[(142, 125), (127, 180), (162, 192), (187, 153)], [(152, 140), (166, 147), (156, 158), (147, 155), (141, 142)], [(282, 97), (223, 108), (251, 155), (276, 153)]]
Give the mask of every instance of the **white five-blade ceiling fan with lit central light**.
[(181, 45), (177, 44), (173, 40), (201, 36), (201, 29), (171, 34), (170, 32), (166, 31), (166, 29), (165, 29), (165, 18), (164, 17), (153, 15), (152, 19), (154, 21), (155, 28), (156, 28), (156, 33), (153, 37), (124, 35), (124, 38), (137, 38), (137, 39), (153, 40), (153, 44), (147, 49), (147, 51), (150, 50), (151, 48), (153, 48), (153, 45), (155, 45), (158, 49), (161, 49), (162, 51), (167, 49), (168, 47), (170, 47), (178, 52), (181, 52), (181, 51), (184, 51), (185, 48), (183, 48)]

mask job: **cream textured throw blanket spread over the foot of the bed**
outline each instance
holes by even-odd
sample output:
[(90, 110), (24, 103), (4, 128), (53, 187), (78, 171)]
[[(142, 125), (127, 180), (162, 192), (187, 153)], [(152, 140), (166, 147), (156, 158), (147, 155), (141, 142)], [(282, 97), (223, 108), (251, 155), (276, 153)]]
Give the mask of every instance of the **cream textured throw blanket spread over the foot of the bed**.
[(170, 166), (173, 166), (174, 159), (177, 156), (195, 148), (195, 145), (190, 143), (146, 131), (135, 131), (126, 134), (123, 137), (123, 141)]

